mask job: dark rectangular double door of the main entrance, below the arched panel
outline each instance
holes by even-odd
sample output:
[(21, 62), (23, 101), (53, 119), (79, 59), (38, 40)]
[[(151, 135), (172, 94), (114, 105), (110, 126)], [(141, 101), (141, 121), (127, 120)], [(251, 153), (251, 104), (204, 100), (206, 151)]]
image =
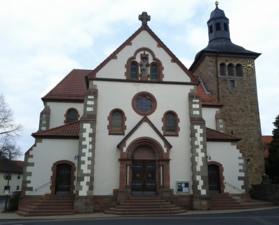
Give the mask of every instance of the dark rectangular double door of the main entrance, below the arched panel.
[(156, 161), (134, 160), (132, 163), (132, 195), (156, 195)]

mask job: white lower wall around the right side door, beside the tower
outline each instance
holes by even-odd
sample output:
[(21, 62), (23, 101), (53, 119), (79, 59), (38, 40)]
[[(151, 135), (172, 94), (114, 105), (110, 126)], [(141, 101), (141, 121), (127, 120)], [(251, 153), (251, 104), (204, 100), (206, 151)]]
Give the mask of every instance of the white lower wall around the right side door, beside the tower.
[[(238, 180), (238, 177), (244, 176), (243, 172), (239, 172), (242, 169), (239, 164), (243, 163), (243, 159), (238, 159), (238, 157), (242, 157), (242, 154), (236, 145), (232, 145), (230, 142), (207, 142), (207, 155), (210, 155), (211, 161), (216, 161), (223, 165), (224, 181), (242, 189), (243, 181)], [(229, 185), (225, 185), (225, 192), (241, 194), (240, 191), (231, 188)]]

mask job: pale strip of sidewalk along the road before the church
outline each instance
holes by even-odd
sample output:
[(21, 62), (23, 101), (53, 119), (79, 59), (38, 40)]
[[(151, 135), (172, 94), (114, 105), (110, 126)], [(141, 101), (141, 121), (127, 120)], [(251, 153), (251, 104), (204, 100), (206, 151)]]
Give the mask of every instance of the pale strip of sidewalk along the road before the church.
[[(0, 209), (2, 204), (0, 204)], [(16, 220), (47, 220), (47, 219), (96, 219), (96, 218), (119, 218), (119, 217), (166, 217), (166, 216), (188, 216), (188, 215), (208, 215), (208, 214), (226, 214), (226, 213), (239, 213), (239, 212), (253, 212), (253, 211), (262, 211), (262, 210), (270, 210), (270, 209), (279, 209), (279, 206), (268, 207), (268, 208), (254, 208), (254, 209), (242, 209), (242, 210), (211, 210), (211, 211), (193, 211), (189, 210), (186, 213), (180, 214), (170, 214), (170, 215), (137, 215), (137, 216), (120, 216), (120, 215), (111, 215), (111, 214), (104, 214), (104, 213), (88, 213), (88, 214), (74, 214), (74, 215), (64, 215), (64, 216), (31, 216), (31, 217), (23, 217), (19, 216), (15, 213), (0, 213), (0, 221), (7, 220), (7, 219), (16, 219)]]

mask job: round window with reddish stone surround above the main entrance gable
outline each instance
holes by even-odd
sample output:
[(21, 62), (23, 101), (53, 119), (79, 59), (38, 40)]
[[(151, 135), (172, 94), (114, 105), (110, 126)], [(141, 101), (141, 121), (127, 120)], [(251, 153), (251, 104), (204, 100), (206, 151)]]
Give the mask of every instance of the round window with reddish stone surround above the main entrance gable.
[(132, 107), (137, 114), (148, 116), (156, 110), (157, 101), (152, 94), (140, 92), (133, 97)]

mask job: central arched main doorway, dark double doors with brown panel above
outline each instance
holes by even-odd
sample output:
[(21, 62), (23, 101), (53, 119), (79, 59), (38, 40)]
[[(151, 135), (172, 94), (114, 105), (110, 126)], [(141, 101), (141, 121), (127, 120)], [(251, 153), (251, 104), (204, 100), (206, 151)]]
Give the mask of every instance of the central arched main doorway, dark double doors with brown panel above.
[(157, 156), (146, 145), (137, 147), (132, 155), (132, 195), (156, 195), (157, 191)]

